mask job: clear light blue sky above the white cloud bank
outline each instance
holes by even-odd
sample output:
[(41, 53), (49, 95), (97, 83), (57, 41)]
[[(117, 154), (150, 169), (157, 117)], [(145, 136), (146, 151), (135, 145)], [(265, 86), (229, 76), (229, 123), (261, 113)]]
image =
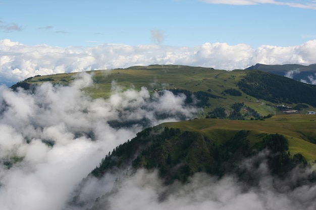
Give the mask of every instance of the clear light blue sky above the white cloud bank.
[(221, 2), (227, 4), (195, 0), (2, 0), (0, 36), (28, 45), (52, 46), (150, 44), (154, 42), (152, 30), (161, 33), (162, 44), (173, 46), (205, 42), (289, 46), (316, 38), (315, 1), (292, 1), (306, 7), (311, 4), (310, 9)]

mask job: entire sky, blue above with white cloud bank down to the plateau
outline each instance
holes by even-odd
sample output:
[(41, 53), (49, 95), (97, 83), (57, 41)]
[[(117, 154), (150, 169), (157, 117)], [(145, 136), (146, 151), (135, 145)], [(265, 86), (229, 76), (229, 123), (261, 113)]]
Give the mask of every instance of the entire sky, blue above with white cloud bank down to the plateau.
[[(0, 56), (7, 56), (0, 61), (0, 81), (4, 77), (7, 78), (6, 80), (20, 80), (36, 74), (36, 71), (43, 75), (45, 72), (40, 70), (42, 68), (51, 68), (53, 70), (50, 73), (56, 73), (54, 69), (57, 65), (62, 66), (61, 60), (51, 66), (44, 66), (38, 60), (33, 63), (35, 66), (33, 69), (30, 67), (32, 65), (23, 68), (28, 62), (24, 64), (18, 62), (16, 57), (10, 57), (12, 53), (21, 55), (22, 52), (28, 52), (29, 57), (21, 55), (20, 61), (32, 62), (37, 57), (31, 58), (30, 52), (37, 51), (43, 56), (42, 51), (62, 50), (65, 57), (69, 54), (67, 49), (71, 48), (71, 56), (74, 56), (74, 51), (75, 54), (89, 51), (87, 56), (90, 56), (91, 53), (105, 46), (108, 46), (106, 49), (108, 54), (98, 56), (112, 57), (116, 59), (116, 64), (109, 64), (109, 61), (107, 63), (103, 61), (102, 64), (94, 62), (85, 67), (74, 67), (73, 70), (86, 71), (104, 67), (126, 67), (129, 64), (154, 64), (145, 62), (148, 60), (146, 55), (153, 51), (155, 51), (151, 54), (151, 58), (155, 58), (153, 62), (162, 64), (191, 64), (224, 69), (244, 68), (255, 64), (254, 62), (310, 64), (316, 62), (316, 58), (310, 59), (312, 57), (310, 53), (315, 49), (315, 22), (316, 1), (0, 0), (0, 40), (2, 40)], [(208, 54), (221, 55), (219, 60), (230, 64), (221, 65), (216, 62), (214, 56), (213, 62), (207, 63), (205, 53), (200, 62), (198, 59), (190, 62), (191, 57), (185, 58), (187, 54), (197, 53), (201, 48), (205, 49), (205, 44)], [(40, 49), (39, 45), (41, 45)], [(132, 48), (133, 52), (130, 51), (131, 49), (127, 50), (131, 54), (135, 55), (138, 52), (133, 59), (125, 59), (126, 63), (119, 61), (117, 56), (111, 54), (113, 50), (109, 49), (110, 46), (118, 50), (118, 46), (121, 49), (122, 45), (125, 48)], [(219, 45), (221, 50), (216, 51)], [(236, 53), (232, 53), (232, 50), (238, 52), (240, 45), (242, 45), (241, 50), (248, 53), (244, 55), (247, 56), (248, 61), (238, 64), (240, 60), (245, 60), (245, 57), (235, 58), (233, 55)], [(245, 49), (247, 47), (244, 45), (249, 49)], [(258, 56), (253, 53), (258, 51), (263, 53), (262, 46), (266, 54), (260, 55), (262, 59), (257, 59)], [(276, 49), (273, 53), (269, 52), (271, 46)], [(295, 47), (305, 48), (294, 52)], [(183, 50), (184, 48), (186, 50)], [(124, 53), (126, 54), (127, 51), (124, 50)], [(226, 52), (228, 54), (225, 54)], [(267, 54), (268, 52), (270, 55)], [(289, 57), (291, 53), (297, 55), (296, 58)], [(302, 53), (307, 54), (302, 56)], [(117, 52), (117, 55), (119, 54)], [(99, 60), (98, 56), (94, 54), (94, 60)], [(143, 62), (140, 61), (142, 56)], [(223, 59), (224, 56), (228, 59)], [(253, 58), (254, 56), (256, 59)], [(92, 61), (87, 61), (90, 62)], [(13, 72), (8, 73), (7, 68), (8, 71)], [(68, 67), (64, 71), (69, 72), (71, 69)], [(47, 74), (48, 72), (46, 71)]]

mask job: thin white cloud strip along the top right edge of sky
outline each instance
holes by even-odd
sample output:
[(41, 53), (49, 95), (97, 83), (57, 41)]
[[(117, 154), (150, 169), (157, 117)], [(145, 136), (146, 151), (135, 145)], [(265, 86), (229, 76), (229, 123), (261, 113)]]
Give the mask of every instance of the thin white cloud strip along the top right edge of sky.
[(273, 5), (283, 5), (288, 7), (296, 7), (302, 9), (316, 10), (316, 4), (314, 1), (294, 1), (294, 2), (280, 2), (274, 0), (200, 0), (200, 2), (205, 2), (209, 4), (225, 4), (225, 5), (258, 5), (258, 4), (273, 4)]

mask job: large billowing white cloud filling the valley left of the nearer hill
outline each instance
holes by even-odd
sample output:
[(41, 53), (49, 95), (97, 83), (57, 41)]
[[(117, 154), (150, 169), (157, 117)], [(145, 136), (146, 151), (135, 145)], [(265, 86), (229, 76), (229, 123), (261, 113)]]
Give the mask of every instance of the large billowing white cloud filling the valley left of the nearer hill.
[[(179, 120), (178, 115), (189, 119), (197, 111), (184, 106), (183, 96), (167, 91), (151, 96), (146, 88), (122, 92), (113, 87), (109, 99), (92, 100), (82, 91), (91, 85), (92, 76), (81, 73), (70, 86), (44, 83), (32, 93), (0, 86), (1, 209), (62, 209), (106, 154), (143, 129), (135, 119), (153, 126)], [(131, 118), (128, 126), (110, 125)], [(104, 181), (109, 185), (95, 193), (111, 188), (113, 179), (109, 175)]]

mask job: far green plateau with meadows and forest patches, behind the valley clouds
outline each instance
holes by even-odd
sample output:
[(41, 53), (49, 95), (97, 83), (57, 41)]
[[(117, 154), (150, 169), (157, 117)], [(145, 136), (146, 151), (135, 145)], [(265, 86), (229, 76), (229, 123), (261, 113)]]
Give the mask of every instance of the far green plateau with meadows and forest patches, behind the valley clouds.
[[(113, 82), (116, 85), (121, 86), (122, 90), (133, 88), (140, 90), (141, 87), (146, 87), (149, 92), (153, 92), (168, 89), (168, 90), (187, 90), (191, 93), (208, 94), (208, 105), (202, 106), (203, 112), (198, 117), (220, 117), (231, 119), (258, 119), (269, 114), (281, 114), (284, 110), (277, 108), (276, 105), (291, 103), (291, 107), (296, 107), (300, 113), (306, 113), (307, 111), (314, 111), (315, 108), (313, 102), (313, 92), (315, 86), (307, 87), (303, 83), (298, 83), (294, 80), (288, 79), (279, 83), (269, 83), (269, 80), (274, 79), (279, 81), (278, 76), (261, 72), (262, 75), (268, 77), (268, 82), (265, 81), (267, 87), (262, 85), (262, 75), (260, 77), (251, 77), (257, 74), (256, 71), (224, 71), (216, 70), (213, 68), (193, 67), (183, 65), (150, 65), (150, 66), (132, 66), (124, 69), (112, 69), (88, 72), (92, 74), (94, 86), (85, 89), (86, 93), (92, 98), (108, 98), (111, 94), (111, 88)], [(74, 80), (76, 74), (58, 74), (50, 76), (36, 76), (28, 78), (22, 81), (12, 88), (23, 87), (30, 89), (34, 85), (41, 84), (43, 82), (50, 82), (56, 85), (68, 85)], [(246, 83), (245, 78), (250, 78)], [(258, 89), (264, 88), (264, 93), (259, 91), (251, 91), (252, 87), (245, 87), (244, 84), (260, 84)], [(267, 84), (269, 83), (269, 84)], [(291, 88), (294, 87), (295, 89)], [(312, 89), (312, 91), (310, 91)], [(278, 90), (277, 96), (275, 93)], [(291, 95), (282, 98), (283, 93), (289, 92), (289, 90), (300, 91), (297, 98), (295, 95)], [(304, 93), (300, 94), (300, 93)], [(188, 96), (191, 97), (191, 96)], [(295, 98), (293, 98), (295, 97)], [(243, 103), (238, 113), (232, 113), (235, 103)], [(301, 105), (303, 103), (303, 105)], [(307, 105), (306, 105), (307, 103)], [(312, 106), (310, 106), (312, 105)], [(217, 116), (215, 113), (217, 108), (224, 108), (225, 116)], [(255, 113), (255, 112), (257, 113)], [(240, 113), (240, 114), (239, 114)], [(253, 113), (253, 114), (251, 114)], [(258, 117), (258, 116), (261, 117)]]

